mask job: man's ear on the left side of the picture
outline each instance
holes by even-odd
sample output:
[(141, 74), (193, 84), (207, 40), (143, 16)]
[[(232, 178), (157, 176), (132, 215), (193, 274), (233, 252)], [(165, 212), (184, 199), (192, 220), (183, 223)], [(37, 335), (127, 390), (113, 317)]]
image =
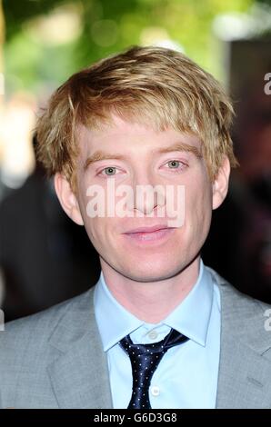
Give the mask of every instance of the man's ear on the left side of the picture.
[(63, 174), (55, 174), (55, 193), (65, 213), (78, 225), (84, 225), (77, 198)]

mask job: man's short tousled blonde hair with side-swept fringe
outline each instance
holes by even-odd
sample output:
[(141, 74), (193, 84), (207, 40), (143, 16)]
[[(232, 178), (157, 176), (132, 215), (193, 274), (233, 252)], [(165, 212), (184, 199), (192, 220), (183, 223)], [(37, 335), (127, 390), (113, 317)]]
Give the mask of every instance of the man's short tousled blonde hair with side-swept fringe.
[(78, 124), (99, 128), (112, 115), (196, 134), (213, 180), (225, 155), (237, 164), (230, 137), (232, 104), (221, 85), (186, 55), (135, 46), (72, 75), (37, 122), (38, 157), (49, 176), (60, 172), (75, 189)]

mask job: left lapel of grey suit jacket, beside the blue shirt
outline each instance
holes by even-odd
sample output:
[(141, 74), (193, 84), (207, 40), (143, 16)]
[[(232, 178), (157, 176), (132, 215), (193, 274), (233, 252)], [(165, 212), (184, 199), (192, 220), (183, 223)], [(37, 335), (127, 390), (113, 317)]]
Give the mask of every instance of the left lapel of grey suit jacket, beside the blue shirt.
[(106, 355), (95, 324), (93, 291), (78, 297), (53, 333), (47, 368), (60, 408), (112, 408)]

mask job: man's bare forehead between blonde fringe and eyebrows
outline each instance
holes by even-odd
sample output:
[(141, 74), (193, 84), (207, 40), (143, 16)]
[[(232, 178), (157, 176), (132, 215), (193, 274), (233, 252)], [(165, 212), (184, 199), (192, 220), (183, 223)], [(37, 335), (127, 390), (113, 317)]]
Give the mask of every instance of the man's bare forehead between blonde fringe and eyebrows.
[(109, 124), (102, 124), (96, 129), (80, 125), (78, 131), (77, 140), (83, 156), (96, 150), (110, 150), (110, 153), (116, 150), (131, 153), (135, 150), (138, 154), (138, 150), (144, 153), (177, 143), (201, 150), (201, 141), (196, 134), (179, 132), (172, 127), (159, 131), (151, 124), (128, 122), (118, 116), (114, 116)]

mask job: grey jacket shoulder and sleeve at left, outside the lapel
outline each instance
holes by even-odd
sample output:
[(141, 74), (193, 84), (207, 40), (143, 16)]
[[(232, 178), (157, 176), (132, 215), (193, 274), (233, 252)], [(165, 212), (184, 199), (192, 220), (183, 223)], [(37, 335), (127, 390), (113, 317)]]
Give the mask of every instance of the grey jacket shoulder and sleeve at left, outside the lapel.
[(5, 331), (0, 332), (0, 408), (58, 407), (48, 365), (65, 353), (58, 342), (65, 342), (65, 338), (73, 342), (91, 328), (92, 295), (90, 289), (43, 312), (5, 324)]

